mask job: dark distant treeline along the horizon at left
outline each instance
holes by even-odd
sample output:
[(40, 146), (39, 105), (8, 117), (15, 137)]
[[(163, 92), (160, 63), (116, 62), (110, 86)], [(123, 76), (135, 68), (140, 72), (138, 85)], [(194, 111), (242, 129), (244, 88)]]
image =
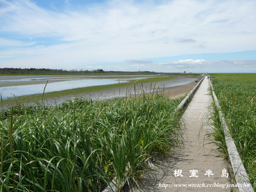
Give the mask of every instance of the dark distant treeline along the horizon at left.
[(102, 69), (97, 70), (58, 70), (58, 69), (45, 69), (45, 68), (0, 68), (0, 74), (84, 74), (84, 73), (154, 73), (149, 71), (137, 71), (137, 72), (123, 72), (123, 71), (104, 71)]

